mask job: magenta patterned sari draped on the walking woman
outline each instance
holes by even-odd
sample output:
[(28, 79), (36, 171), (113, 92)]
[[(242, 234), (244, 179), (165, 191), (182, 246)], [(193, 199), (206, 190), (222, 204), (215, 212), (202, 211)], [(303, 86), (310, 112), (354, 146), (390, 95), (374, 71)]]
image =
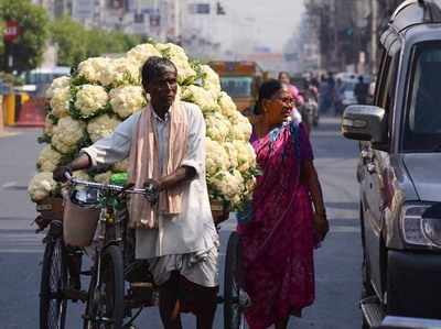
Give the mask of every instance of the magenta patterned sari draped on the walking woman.
[(302, 124), (286, 124), (254, 142), (258, 178), (249, 222), (238, 226), (245, 289), (251, 298), (246, 318), (265, 329), (289, 315), (300, 316), (314, 300), (312, 205), (301, 179), (301, 163), (312, 160)]

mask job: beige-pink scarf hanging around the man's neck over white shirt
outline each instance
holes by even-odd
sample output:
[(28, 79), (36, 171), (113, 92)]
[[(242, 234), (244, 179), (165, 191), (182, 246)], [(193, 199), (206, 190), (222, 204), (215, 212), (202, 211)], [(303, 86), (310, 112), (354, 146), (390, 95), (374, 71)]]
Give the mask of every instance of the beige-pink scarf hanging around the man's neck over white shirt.
[[(158, 180), (161, 172), (164, 176), (173, 174), (185, 156), (187, 143), (187, 118), (179, 101), (170, 110), (168, 157), (163, 167), (159, 165), (158, 134), (153, 108), (148, 106), (139, 118), (133, 131), (133, 139), (129, 157), (129, 180), (136, 188), (143, 188), (147, 179)], [(141, 195), (132, 195), (129, 204), (131, 228), (157, 229), (158, 216), (172, 216), (181, 212), (182, 187), (164, 190), (159, 196), (159, 202), (150, 206)]]

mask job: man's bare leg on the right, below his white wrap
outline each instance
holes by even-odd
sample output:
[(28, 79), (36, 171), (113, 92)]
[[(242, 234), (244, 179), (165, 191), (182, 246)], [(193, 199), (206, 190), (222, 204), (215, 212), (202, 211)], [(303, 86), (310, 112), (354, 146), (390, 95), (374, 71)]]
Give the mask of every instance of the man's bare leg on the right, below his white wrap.
[(197, 319), (197, 329), (212, 329), (217, 308), (218, 287), (204, 287), (181, 276), (181, 294), (191, 296)]

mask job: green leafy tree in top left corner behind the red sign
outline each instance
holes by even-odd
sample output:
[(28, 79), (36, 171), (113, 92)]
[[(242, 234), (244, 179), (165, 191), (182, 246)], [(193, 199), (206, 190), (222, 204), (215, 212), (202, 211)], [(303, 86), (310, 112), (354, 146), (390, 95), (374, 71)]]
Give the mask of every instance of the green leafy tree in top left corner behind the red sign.
[(32, 4), (30, 0), (0, 0), (0, 21), (17, 21), (20, 34), (17, 40), (4, 47), (1, 68), (7, 67), (7, 48), (13, 56), (13, 69), (23, 72), (37, 67), (44, 53), (44, 46), (49, 36), (49, 17), (46, 11)]

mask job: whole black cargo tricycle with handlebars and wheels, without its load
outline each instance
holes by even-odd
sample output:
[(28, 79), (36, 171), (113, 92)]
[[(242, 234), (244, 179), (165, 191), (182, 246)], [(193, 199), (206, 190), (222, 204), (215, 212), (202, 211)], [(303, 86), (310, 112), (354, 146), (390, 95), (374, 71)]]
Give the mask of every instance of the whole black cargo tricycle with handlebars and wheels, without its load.
[[(61, 284), (54, 294), (58, 297), (55, 299), (56, 307), (54, 309), (58, 311), (53, 317), (53, 322), (61, 323), (61, 326), (42, 326), (41, 328), (63, 329), (67, 300), (74, 298), (86, 303), (83, 315), (84, 329), (130, 328), (144, 307), (158, 305), (159, 294), (151, 275), (149, 275), (148, 263), (135, 260), (135, 234), (133, 230), (127, 227), (126, 197), (130, 194), (142, 194), (152, 200), (154, 196), (150, 189), (123, 187), (125, 179), (115, 182), (115, 177), (112, 177), (112, 184), (108, 185), (67, 178), (71, 186), (69, 200), (75, 201), (79, 207), (87, 205), (99, 210), (98, 224), (96, 231), (94, 230), (93, 265), (89, 271), (80, 272), (83, 275), (90, 276), (90, 283), (88, 292), (71, 292), (71, 296), (66, 294), (67, 278), (69, 277), (66, 265), (66, 250), (68, 249), (66, 244), (72, 241), (66, 241), (66, 243), (63, 240), (62, 219), (51, 221), (51, 227), (57, 228), (54, 245), (60, 248), (58, 254), (63, 255), (57, 259), (57, 266), (64, 270), (57, 272), (62, 273), (58, 279)], [(83, 186), (85, 190), (78, 194), (75, 187), (79, 186)], [(66, 226), (68, 218), (66, 219), (65, 216), (64, 220)], [(51, 237), (55, 234), (54, 230), (52, 229)], [(47, 244), (47, 250), (53, 249), (49, 245), (52, 244)], [(224, 303), (224, 323), (227, 329), (245, 328), (244, 310), (249, 305), (248, 297), (239, 284), (239, 245), (238, 235), (233, 232), (227, 248), (224, 297), (218, 297), (218, 303)], [(43, 273), (47, 272), (46, 267), (49, 266), (43, 266)], [(41, 309), (41, 318), (51, 314), (44, 307)], [(133, 309), (138, 310), (133, 312)], [(129, 319), (125, 322), (126, 318)]]

